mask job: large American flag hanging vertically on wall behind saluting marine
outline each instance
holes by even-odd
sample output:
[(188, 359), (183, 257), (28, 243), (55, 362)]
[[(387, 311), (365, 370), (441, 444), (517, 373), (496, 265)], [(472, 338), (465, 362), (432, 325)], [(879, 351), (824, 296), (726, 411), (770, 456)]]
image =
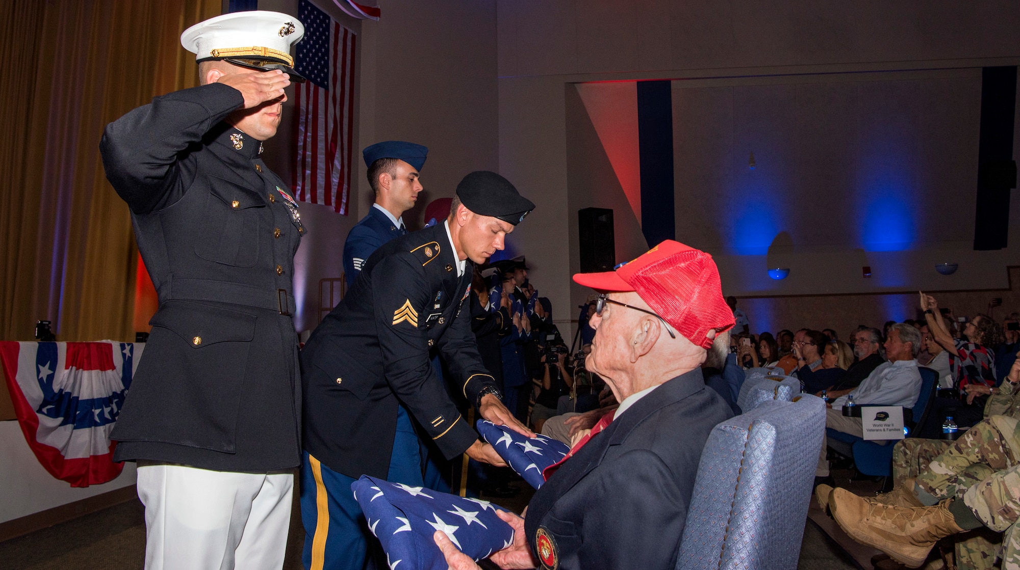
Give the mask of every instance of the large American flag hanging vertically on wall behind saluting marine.
[(355, 36), (308, 0), (298, 2), (305, 37), (295, 68), (308, 80), (295, 90), (296, 197), (347, 215), (354, 145)]

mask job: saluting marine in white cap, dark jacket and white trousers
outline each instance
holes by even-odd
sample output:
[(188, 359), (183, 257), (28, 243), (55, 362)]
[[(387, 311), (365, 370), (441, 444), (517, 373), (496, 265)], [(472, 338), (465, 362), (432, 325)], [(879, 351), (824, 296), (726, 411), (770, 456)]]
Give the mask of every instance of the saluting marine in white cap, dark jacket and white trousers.
[(189, 27), (200, 87), (156, 97), (100, 144), (159, 294), (111, 434), (114, 460), (139, 463), (147, 569), (283, 567), (301, 464), (292, 275), (305, 230), (260, 155), (303, 34), (264, 11)]

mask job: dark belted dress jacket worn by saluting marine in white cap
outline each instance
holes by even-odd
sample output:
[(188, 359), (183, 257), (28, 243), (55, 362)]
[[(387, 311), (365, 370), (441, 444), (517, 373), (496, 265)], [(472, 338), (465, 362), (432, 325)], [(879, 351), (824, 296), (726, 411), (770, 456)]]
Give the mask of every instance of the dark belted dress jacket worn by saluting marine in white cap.
[(107, 125), (106, 176), (131, 208), (159, 295), (110, 437), (114, 460), (223, 471), (301, 464), (294, 253), (304, 228), (258, 140), (222, 122), (244, 104), (211, 83)]

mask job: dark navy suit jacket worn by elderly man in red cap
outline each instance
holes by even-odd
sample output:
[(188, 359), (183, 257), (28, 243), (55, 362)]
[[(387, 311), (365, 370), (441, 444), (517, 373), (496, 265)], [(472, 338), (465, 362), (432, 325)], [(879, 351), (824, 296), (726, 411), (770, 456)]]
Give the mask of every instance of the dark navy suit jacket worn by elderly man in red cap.
[[(697, 368), (614, 418), (528, 505), (524, 530), (543, 567), (672, 570), (702, 449), (732, 415)], [(551, 556), (537, 550), (540, 531)]]

